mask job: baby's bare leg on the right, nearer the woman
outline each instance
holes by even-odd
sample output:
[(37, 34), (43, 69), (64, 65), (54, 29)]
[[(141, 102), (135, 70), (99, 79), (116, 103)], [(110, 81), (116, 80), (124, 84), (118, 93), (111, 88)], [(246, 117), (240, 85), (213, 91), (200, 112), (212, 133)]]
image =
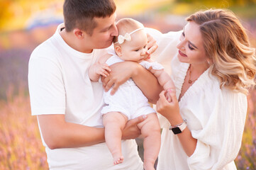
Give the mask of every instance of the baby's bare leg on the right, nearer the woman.
[(154, 164), (161, 145), (160, 124), (156, 113), (150, 113), (145, 121), (138, 124), (138, 128), (144, 137), (144, 169), (155, 170)]

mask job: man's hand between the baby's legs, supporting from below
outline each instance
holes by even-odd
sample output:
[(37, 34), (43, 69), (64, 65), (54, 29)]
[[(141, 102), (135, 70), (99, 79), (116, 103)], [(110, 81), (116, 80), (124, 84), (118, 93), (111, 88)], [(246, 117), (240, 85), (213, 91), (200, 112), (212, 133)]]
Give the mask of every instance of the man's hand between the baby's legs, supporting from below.
[(139, 137), (141, 132), (137, 125), (143, 122), (146, 118), (148, 118), (147, 115), (140, 115), (138, 118), (128, 120), (125, 128), (123, 128), (122, 140), (130, 140)]

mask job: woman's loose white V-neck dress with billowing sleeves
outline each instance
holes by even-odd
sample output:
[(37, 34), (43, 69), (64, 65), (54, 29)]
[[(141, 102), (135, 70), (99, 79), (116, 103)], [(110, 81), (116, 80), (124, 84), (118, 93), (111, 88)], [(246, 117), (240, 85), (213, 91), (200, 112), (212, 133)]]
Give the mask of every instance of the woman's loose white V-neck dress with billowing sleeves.
[[(189, 68), (189, 64), (179, 62), (177, 55), (173, 55), (177, 53), (180, 33), (158, 33), (157, 37), (152, 33), (160, 47), (152, 57), (161, 64), (172, 60), (172, 65), (166, 64), (165, 69), (172, 69), (177, 98)], [(197, 139), (194, 154), (187, 157), (179, 138), (169, 130), (169, 122), (160, 116), (163, 129), (157, 170), (236, 169), (233, 160), (242, 142), (247, 98), (245, 94), (220, 89), (218, 79), (209, 71), (207, 69), (179, 101), (182, 118), (187, 119), (191, 135)]]

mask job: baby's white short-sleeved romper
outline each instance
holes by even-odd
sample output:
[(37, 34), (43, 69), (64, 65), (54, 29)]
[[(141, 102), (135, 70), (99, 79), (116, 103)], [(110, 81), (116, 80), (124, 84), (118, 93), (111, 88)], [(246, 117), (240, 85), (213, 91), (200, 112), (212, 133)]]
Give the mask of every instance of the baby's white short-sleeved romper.
[[(116, 54), (109, 52), (112, 56), (106, 61), (110, 66), (116, 62), (123, 62)], [(162, 65), (157, 62), (140, 62), (140, 64), (149, 69), (163, 69)], [(155, 110), (148, 103), (142, 91), (136, 86), (133, 79), (128, 79), (124, 84), (119, 86), (116, 93), (112, 96), (111, 89), (107, 92), (104, 91), (104, 102), (106, 106), (102, 108), (101, 114), (108, 112), (121, 112), (127, 116), (128, 120), (137, 118), (140, 115), (148, 115), (155, 113)]]

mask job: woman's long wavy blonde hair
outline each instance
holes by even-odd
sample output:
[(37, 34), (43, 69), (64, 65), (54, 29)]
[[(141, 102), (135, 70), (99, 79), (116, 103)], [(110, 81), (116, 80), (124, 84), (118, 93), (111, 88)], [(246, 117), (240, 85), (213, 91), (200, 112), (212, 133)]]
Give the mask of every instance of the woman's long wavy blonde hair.
[(245, 28), (231, 11), (209, 9), (187, 18), (199, 24), (211, 74), (218, 77), (221, 88), (248, 93), (255, 86), (255, 48), (250, 47)]

